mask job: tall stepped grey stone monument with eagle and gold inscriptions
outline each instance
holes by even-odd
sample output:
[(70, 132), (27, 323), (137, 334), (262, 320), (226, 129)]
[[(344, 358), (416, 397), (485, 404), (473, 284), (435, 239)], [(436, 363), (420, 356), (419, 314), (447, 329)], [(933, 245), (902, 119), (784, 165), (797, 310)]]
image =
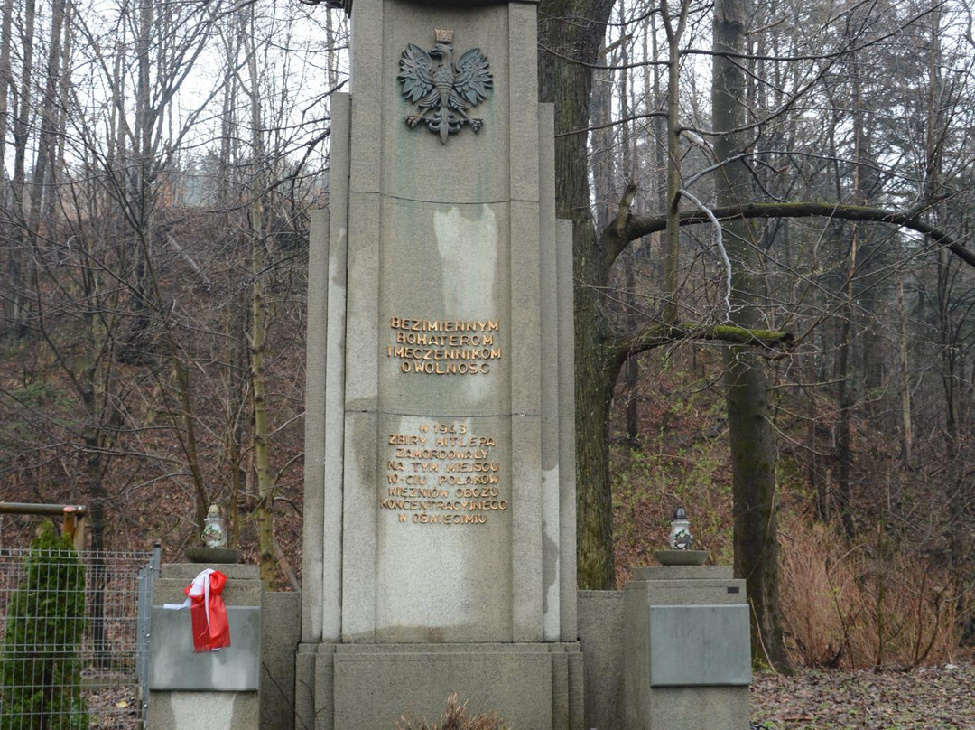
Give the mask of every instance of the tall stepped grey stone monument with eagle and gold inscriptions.
[(296, 725), (582, 726), (571, 229), (536, 4), (355, 0), (309, 254)]

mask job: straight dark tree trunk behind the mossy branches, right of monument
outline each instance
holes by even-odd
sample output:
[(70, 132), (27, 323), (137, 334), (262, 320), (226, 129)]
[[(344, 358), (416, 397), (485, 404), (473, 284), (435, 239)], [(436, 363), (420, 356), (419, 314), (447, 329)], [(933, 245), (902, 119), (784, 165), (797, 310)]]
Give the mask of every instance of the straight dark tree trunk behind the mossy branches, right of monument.
[[(747, 0), (718, 0), (714, 44), (717, 54), (742, 54)], [(729, 160), (744, 148), (740, 131), (746, 121), (745, 75), (740, 63), (714, 57), (712, 111), (715, 154)], [(742, 161), (729, 162), (716, 176), (719, 206), (734, 206), (751, 197), (751, 180)], [(759, 277), (755, 271), (753, 231), (749, 223), (725, 223), (724, 245), (733, 265), (731, 304), (736, 324), (761, 324), (756, 306)], [(761, 355), (728, 347), (725, 355), (728, 432), (734, 495), (735, 575), (744, 578), (752, 606), (755, 656), (776, 669), (788, 669), (778, 605), (778, 539), (775, 507), (775, 438), (768, 418), (768, 387)]]

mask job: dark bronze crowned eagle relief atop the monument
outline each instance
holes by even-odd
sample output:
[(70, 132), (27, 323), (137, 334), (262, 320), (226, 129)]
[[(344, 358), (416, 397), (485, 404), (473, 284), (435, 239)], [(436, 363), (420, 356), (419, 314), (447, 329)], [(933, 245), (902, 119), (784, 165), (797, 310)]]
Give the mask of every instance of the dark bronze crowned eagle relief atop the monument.
[(400, 75), (407, 101), (419, 106), (418, 113), (407, 116), (407, 124), (426, 124), (440, 142), (447, 143), (465, 124), (477, 132), (484, 119), (468, 112), (487, 99), (493, 85), (487, 58), (480, 48), (472, 48), (453, 60), (453, 31), (435, 28), (437, 45), (430, 51), (410, 43), (400, 58)]

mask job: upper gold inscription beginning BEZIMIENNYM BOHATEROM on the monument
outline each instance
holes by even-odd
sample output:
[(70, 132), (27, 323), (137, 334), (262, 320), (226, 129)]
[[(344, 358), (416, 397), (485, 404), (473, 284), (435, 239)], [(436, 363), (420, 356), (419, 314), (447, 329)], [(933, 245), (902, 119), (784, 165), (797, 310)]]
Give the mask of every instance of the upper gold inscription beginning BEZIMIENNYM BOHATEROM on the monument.
[(401, 373), (487, 375), (501, 359), (496, 319), (410, 319), (390, 317), (392, 343), (386, 357)]

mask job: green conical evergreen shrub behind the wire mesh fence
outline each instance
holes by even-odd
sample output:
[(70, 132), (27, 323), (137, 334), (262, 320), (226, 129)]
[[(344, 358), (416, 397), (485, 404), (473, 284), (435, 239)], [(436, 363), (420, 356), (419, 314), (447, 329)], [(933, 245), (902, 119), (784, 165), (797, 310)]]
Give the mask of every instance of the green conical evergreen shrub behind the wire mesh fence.
[(67, 537), (43, 529), (7, 606), (0, 655), (0, 730), (87, 730), (78, 646), (85, 568)]

